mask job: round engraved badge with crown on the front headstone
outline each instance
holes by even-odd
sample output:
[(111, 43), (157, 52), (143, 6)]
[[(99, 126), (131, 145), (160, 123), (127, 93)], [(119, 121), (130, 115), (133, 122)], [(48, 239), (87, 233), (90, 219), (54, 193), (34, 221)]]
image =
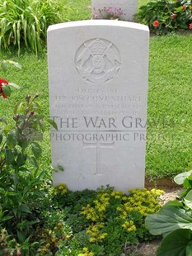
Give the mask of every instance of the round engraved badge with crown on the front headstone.
[(119, 73), (119, 50), (108, 40), (87, 40), (77, 50), (75, 66), (80, 76), (91, 83), (105, 83)]

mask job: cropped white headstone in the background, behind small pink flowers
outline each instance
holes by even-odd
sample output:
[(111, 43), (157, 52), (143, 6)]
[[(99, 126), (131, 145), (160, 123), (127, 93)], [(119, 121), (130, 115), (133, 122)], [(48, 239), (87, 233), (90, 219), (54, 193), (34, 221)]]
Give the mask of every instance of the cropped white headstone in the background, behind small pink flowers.
[(137, 0), (91, 0), (92, 18), (105, 19), (107, 16), (117, 17), (123, 21), (133, 21), (137, 12)]

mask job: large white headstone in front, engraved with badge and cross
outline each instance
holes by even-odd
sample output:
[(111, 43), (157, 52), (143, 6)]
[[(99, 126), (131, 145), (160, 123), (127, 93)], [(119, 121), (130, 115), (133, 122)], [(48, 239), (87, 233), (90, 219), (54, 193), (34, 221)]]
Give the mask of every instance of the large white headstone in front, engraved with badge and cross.
[(74, 21), (49, 26), (54, 184), (73, 191), (144, 186), (148, 26)]

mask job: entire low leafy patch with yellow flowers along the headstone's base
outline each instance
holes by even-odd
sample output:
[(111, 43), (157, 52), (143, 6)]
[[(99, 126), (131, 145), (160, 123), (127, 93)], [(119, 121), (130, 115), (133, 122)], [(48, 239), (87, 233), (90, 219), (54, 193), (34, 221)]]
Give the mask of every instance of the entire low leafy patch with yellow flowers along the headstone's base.
[(65, 210), (66, 223), (73, 231), (64, 255), (129, 255), (131, 245), (152, 239), (144, 219), (160, 208), (158, 197), (162, 191), (137, 189), (127, 195), (107, 186), (97, 192), (71, 192), (61, 184), (55, 192), (54, 198)]

